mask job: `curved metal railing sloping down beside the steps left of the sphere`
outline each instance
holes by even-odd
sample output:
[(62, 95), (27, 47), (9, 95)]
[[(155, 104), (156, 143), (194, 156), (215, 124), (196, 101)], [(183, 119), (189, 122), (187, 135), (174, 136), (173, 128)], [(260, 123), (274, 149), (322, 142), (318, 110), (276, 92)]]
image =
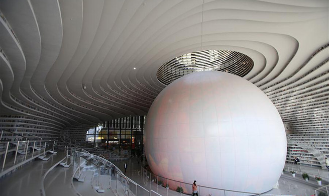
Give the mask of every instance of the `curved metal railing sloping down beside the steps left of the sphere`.
[[(80, 171), (81, 170), (81, 161), (79, 157), (84, 157), (84, 159), (86, 159), (87, 161), (92, 161), (94, 164), (94, 166), (97, 167), (97, 169), (99, 169), (99, 174), (98, 174), (98, 183), (100, 180), (100, 174), (101, 171), (103, 174), (106, 175), (111, 175), (112, 177), (115, 177), (116, 180), (116, 185), (114, 188), (114, 191), (116, 192), (116, 194), (119, 194), (119, 192), (123, 192), (123, 194), (126, 195), (151, 195), (152, 191), (147, 190), (146, 188), (144, 188), (143, 186), (139, 185), (138, 183), (136, 183), (135, 181), (133, 181), (132, 179), (130, 179), (129, 177), (127, 177), (115, 164), (113, 164), (112, 162), (94, 155), (94, 154), (90, 154), (89, 152), (81, 149), (81, 148), (75, 148), (72, 147), (72, 154), (74, 155), (74, 168), (77, 166), (78, 168), (76, 168), (76, 171)], [(81, 150), (81, 151), (79, 151)], [(85, 151), (85, 152), (82, 152)], [(74, 152), (74, 153), (73, 153)], [(83, 165), (82, 165), (83, 167)], [(112, 186), (113, 187), (113, 186)], [(158, 194), (160, 196), (162, 196), (161, 194)]]

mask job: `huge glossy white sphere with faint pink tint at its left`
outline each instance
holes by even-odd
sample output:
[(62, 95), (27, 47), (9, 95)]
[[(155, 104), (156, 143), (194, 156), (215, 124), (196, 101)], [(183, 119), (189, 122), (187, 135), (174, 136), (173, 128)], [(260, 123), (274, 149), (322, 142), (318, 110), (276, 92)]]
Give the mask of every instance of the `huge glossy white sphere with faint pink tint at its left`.
[(203, 71), (177, 79), (156, 97), (146, 118), (145, 152), (157, 175), (265, 192), (284, 167), (286, 136), (258, 87), (233, 74)]

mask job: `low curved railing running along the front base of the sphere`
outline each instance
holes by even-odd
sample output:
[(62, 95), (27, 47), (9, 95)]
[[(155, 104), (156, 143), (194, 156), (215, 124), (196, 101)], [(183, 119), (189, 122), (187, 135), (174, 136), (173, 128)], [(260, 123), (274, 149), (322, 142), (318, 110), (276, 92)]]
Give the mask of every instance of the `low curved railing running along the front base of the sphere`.
[[(141, 172), (143, 178), (146, 180), (150, 180), (150, 190), (154, 192), (159, 191), (159, 186), (165, 187), (167, 189), (171, 189), (174, 191), (179, 192), (180, 194), (191, 194), (192, 192), (192, 183), (181, 182), (173, 179), (169, 179), (166, 177), (162, 177), (156, 175), (141, 166)], [(153, 185), (152, 185), (153, 184)], [(257, 192), (246, 192), (246, 191), (237, 191), (237, 190), (230, 190), (230, 189), (222, 189), (222, 188), (214, 188), (208, 186), (198, 185), (198, 195), (224, 195), (224, 196), (247, 196), (247, 195), (270, 195), (275, 196), (275, 194), (266, 194), (266, 193), (257, 193)], [(295, 196), (292, 195), (285, 195), (285, 196)]]

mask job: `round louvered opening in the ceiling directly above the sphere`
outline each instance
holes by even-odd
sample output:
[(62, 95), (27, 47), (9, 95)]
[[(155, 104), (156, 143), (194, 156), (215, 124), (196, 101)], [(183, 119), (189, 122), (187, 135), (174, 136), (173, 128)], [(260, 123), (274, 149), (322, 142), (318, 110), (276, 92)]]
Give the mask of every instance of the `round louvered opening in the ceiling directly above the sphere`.
[(224, 71), (245, 76), (254, 61), (247, 55), (231, 50), (202, 50), (178, 56), (162, 65), (157, 71), (158, 80), (168, 85), (176, 79), (198, 71)]

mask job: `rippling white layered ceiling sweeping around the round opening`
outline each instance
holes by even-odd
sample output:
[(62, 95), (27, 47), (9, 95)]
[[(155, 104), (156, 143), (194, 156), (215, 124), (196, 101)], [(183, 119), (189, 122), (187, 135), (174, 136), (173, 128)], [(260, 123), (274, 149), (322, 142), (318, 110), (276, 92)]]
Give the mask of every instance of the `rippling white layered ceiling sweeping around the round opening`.
[(161, 65), (226, 49), (253, 59), (244, 78), (293, 129), (329, 127), (327, 0), (1, 0), (0, 10), (2, 118), (69, 129), (146, 115), (165, 87)]

